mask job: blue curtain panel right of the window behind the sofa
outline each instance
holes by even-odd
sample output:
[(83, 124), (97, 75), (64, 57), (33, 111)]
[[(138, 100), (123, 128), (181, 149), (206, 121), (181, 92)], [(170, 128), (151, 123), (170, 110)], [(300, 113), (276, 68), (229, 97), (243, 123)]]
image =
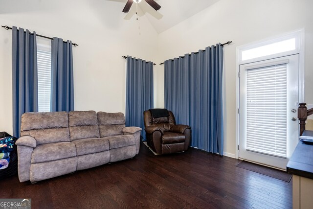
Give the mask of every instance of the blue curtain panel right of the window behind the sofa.
[(50, 110), (74, 110), (72, 42), (54, 37), (51, 42)]

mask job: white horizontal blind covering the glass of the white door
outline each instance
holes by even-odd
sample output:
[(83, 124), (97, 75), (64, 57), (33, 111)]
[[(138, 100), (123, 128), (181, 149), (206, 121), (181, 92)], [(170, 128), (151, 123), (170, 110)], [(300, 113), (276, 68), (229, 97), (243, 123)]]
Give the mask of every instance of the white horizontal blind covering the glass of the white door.
[(287, 64), (247, 70), (246, 149), (286, 157)]

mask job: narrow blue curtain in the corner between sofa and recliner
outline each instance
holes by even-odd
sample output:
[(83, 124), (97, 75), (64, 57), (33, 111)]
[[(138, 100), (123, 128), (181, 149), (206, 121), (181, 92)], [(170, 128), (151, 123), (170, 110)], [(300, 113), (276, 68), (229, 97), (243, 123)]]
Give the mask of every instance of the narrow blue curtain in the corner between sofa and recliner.
[(143, 112), (153, 108), (153, 63), (127, 57), (126, 126), (142, 128), (146, 139)]

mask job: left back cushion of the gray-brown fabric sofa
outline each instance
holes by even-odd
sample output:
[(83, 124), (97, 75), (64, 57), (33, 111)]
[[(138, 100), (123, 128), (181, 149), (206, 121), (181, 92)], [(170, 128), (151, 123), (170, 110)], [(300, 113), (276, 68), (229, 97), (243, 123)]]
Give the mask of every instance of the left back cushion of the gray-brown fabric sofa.
[(67, 112), (24, 113), (21, 136), (31, 136), (37, 145), (69, 141)]

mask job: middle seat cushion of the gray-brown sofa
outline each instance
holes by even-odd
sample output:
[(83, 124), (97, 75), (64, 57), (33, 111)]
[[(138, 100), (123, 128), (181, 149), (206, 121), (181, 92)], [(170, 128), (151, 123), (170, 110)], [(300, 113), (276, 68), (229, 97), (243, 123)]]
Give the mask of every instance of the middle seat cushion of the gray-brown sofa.
[(78, 139), (72, 143), (76, 146), (76, 156), (109, 150), (109, 141), (105, 138)]

